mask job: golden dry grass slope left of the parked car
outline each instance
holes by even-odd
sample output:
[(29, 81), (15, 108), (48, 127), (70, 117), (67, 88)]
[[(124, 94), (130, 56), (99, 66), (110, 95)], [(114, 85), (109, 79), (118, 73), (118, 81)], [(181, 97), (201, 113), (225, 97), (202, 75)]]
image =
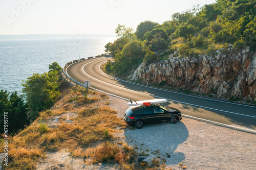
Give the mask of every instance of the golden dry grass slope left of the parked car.
[[(36, 169), (36, 163), (47, 152), (61, 149), (67, 149), (74, 157), (93, 158), (89, 160), (94, 163), (119, 163), (122, 169), (149, 167), (148, 162), (137, 162), (138, 153), (133, 147), (115, 143), (113, 134), (127, 126), (116, 111), (106, 106), (107, 95), (90, 90), (84, 97), (85, 91), (78, 86), (60, 91), (60, 99), (51, 110), (40, 112), (32, 125), (10, 137), (9, 166), (5, 169)], [(72, 117), (73, 123), (65, 121), (69, 112), (77, 114)], [(47, 123), (63, 113), (57, 126), (48, 128)], [(157, 164), (153, 162), (152, 166)]]

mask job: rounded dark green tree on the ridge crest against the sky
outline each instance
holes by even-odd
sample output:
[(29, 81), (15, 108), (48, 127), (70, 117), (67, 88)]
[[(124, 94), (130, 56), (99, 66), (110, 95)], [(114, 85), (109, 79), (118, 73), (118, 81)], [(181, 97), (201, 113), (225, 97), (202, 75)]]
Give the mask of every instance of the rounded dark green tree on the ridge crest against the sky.
[(140, 24), (137, 27), (137, 30), (135, 32), (135, 35), (137, 36), (138, 39), (142, 40), (144, 34), (147, 31), (152, 31), (154, 29), (155, 26), (157, 26), (158, 23), (157, 22), (152, 22), (149, 20), (146, 20), (144, 22), (140, 22)]

